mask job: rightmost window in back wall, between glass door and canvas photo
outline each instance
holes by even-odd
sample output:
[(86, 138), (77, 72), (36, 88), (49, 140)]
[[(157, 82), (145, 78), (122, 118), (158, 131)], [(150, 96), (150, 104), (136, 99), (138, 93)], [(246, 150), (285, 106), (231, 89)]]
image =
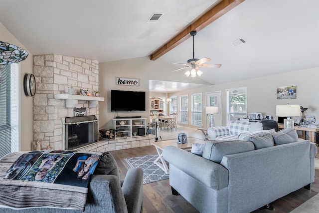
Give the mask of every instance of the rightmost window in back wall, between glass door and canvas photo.
[(228, 89), (227, 120), (237, 121), (247, 117), (247, 87)]

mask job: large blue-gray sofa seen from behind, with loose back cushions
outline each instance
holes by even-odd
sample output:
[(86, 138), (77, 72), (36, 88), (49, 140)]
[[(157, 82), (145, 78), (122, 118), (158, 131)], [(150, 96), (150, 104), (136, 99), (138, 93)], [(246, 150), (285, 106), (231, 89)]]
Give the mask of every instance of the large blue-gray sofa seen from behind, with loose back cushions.
[(248, 213), (315, 181), (317, 147), (293, 129), (207, 141), (198, 156), (164, 148), (169, 184), (201, 213)]

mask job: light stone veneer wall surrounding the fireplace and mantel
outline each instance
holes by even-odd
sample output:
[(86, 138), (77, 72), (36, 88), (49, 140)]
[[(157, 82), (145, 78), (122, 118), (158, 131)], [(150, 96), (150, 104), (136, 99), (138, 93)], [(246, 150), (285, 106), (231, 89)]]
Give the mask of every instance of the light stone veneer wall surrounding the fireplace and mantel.
[[(40, 142), (41, 149), (62, 149), (62, 120), (72, 117), (73, 108), (66, 108), (66, 100), (54, 99), (54, 94), (67, 93), (69, 85), (75, 94), (80, 88), (89, 93), (99, 90), (99, 62), (97, 60), (57, 54), (33, 56), (33, 74), (37, 91), (33, 97), (33, 145)], [(88, 101), (78, 101), (76, 108), (86, 107), (87, 115), (98, 118), (96, 108), (89, 108)]]

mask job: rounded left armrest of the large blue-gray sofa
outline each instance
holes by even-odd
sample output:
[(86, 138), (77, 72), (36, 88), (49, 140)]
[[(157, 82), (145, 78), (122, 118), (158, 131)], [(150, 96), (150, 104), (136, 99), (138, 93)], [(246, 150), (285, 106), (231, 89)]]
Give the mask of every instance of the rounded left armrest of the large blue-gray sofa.
[(210, 160), (174, 146), (164, 148), (163, 158), (169, 164), (214, 190), (228, 186), (228, 170)]

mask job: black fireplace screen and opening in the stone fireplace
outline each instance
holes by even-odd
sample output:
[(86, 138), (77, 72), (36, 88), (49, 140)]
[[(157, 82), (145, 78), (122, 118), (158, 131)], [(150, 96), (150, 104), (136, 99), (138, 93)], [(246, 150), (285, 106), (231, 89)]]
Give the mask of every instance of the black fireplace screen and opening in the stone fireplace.
[(94, 115), (65, 118), (65, 149), (77, 149), (98, 141), (98, 120)]

